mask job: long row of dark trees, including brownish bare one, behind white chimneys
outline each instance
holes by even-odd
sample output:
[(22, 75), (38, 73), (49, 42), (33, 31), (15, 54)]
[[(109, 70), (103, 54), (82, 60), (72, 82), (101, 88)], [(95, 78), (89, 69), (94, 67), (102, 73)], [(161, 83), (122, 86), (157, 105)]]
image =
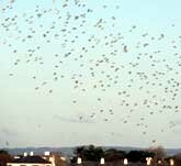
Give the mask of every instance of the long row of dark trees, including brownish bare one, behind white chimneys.
[[(146, 158), (151, 157), (152, 163), (157, 163), (159, 166), (170, 165), (170, 159), (174, 161), (174, 166), (181, 166), (181, 153), (167, 156), (162, 146), (126, 152), (117, 148), (103, 148), (101, 146), (83, 145), (75, 148), (71, 163), (76, 163), (78, 157), (80, 157), (82, 162), (100, 162), (100, 158), (103, 157), (105, 162), (113, 163), (123, 162), (124, 158), (127, 158), (131, 163), (146, 163)], [(159, 161), (161, 164), (158, 164)]]

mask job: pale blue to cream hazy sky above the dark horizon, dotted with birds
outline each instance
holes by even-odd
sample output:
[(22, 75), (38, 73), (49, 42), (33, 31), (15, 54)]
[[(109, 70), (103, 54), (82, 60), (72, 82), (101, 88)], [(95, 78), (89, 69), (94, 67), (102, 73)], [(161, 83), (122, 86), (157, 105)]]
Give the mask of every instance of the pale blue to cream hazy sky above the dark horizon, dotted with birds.
[(180, 7), (1, 0), (0, 147), (181, 147)]

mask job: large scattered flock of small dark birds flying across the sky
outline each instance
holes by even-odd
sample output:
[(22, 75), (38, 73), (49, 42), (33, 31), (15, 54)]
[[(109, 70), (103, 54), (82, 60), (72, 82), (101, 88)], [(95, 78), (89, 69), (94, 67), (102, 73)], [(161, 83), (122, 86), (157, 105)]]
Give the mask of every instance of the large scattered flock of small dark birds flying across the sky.
[[(45, 70), (29, 76), (37, 82), (35, 92), (46, 87), (45, 93), (54, 96), (54, 82), (66, 80), (70, 85), (67, 92), (71, 89), (82, 98), (87, 95), (88, 100), (95, 98), (94, 111), (78, 115), (80, 122), (116, 119), (117, 124), (133, 123), (146, 135), (150, 119), (169, 114), (168, 125), (160, 132), (176, 128), (171, 115), (181, 109), (181, 36), (140, 33), (138, 25), (122, 29), (120, 18), (111, 13), (99, 18), (79, 0), (65, 0), (60, 9), (36, 5), (33, 12), (5, 16), (13, 5), (15, 1), (1, 8), (0, 21), (5, 34), (0, 43), (13, 55), (10, 77), (19, 74), (19, 66), (41, 68)], [(101, 8), (109, 13), (109, 5)], [(114, 8), (121, 10), (118, 4)], [(39, 75), (46, 75), (47, 69), (52, 74), (43, 80)], [(95, 96), (89, 97), (92, 92)], [(75, 106), (83, 104), (79, 98), (70, 100)]]

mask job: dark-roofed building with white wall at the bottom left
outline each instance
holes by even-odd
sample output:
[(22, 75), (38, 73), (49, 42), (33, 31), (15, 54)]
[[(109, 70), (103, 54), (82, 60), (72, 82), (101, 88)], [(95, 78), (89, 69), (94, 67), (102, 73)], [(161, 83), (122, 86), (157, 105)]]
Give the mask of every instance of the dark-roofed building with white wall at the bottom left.
[(14, 158), (11, 163), (7, 163), (7, 166), (53, 166), (49, 161), (42, 158), (41, 156), (20, 156)]

